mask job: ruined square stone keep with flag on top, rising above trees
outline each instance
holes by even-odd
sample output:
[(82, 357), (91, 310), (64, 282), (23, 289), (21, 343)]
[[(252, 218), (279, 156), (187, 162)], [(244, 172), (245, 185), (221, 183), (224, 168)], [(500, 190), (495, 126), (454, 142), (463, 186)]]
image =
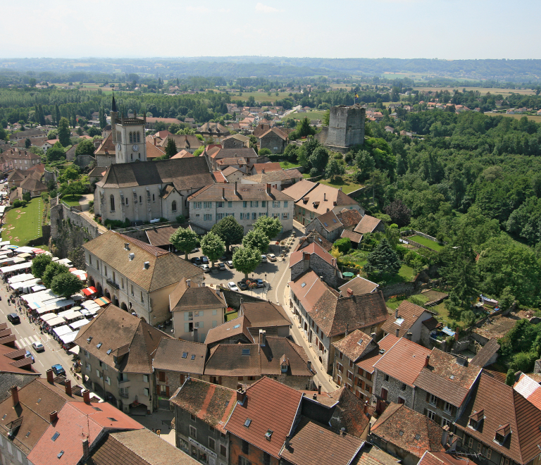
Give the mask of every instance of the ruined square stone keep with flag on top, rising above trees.
[(347, 151), (352, 145), (364, 143), (366, 109), (359, 104), (333, 106), (325, 145), (337, 151)]

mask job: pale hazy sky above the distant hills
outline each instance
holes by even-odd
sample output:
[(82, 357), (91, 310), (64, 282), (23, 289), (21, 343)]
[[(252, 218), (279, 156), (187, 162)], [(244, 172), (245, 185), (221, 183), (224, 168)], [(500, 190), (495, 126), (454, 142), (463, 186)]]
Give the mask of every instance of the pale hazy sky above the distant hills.
[(26, 0), (2, 13), (2, 58), (541, 58), (540, 0)]

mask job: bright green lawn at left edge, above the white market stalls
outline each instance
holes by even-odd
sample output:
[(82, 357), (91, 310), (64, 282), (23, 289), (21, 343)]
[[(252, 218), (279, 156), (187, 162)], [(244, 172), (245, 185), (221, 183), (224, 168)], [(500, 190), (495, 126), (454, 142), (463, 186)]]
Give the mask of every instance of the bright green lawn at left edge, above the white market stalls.
[(24, 208), (8, 211), (2, 240), (11, 240), (11, 244), (22, 246), (42, 237), (42, 209), (43, 200), (37, 197)]

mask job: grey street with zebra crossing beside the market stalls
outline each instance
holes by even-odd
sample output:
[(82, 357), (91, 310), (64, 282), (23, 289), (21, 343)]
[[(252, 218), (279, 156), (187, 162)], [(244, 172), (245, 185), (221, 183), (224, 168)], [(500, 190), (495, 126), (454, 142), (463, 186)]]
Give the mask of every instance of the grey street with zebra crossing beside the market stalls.
[[(32, 365), (32, 368), (35, 371), (42, 373), (42, 377), (46, 377), (46, 370), (51, 368), (51, 366), (56, 364), (61, 364), (66, 370), (66, 376), (71, 380), (72, 385), (80, 384), (80, 380), (77, 380), (70, 373), (70, 366), (73, 364), (72, 356), (66, 354), (62, 347), (48, 334), (39, 333), (39, 325), (35, 323), (30, 323), (28, 318), (24, 314), (18, 314), (20, 316), (20, 323), (13, 325), (7, 319), (7, 315), (15, 311), (15, 306), (8, 305), (8, 294), (7, 294), (7, 285), (2, 283), (0, 285), (0, 295), (2, 300), (0, 301), (0, 323), (8, 323), (8, 328), (11, 329), (12, 333), (17, 337), (17, 345), (21, 349), (27, 349), (32, 353), (35, 359), (35, 364)], [(32, 342), (42, 342), (45, 346), (44, 352), (36, 352), (32, 347)]]

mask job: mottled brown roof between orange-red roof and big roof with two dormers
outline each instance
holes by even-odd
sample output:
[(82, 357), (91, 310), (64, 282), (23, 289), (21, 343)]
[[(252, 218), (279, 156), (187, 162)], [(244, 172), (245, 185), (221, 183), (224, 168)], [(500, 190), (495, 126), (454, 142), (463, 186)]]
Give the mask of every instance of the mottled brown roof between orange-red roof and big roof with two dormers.
[[(460, 407), (478, 378), (479, 366), (462, 366), (452, 354), (433, 349), (428, 366), (414, 381), (414, 385), (430, 394)], [(390, 373), (392, 376), (392, 373)]]

